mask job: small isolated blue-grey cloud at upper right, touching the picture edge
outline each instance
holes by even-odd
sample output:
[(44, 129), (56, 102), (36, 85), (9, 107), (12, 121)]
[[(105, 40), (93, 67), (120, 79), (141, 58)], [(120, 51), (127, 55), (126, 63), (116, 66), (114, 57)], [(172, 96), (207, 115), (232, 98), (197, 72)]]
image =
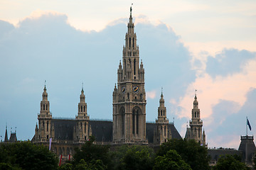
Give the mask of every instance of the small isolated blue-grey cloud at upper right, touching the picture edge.
[(215, 57), (209, 56), (206, 62), (206, 72), (211, 77), (227, 77), (242, 71), (247, 62), (256, 58), (255, 52), (247, 50), (225, 49)]

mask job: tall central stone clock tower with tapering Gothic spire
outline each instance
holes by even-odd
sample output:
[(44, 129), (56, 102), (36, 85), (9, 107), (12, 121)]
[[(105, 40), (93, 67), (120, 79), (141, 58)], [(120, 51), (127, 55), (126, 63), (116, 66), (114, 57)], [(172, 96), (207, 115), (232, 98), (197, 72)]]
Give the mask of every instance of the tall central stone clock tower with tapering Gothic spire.
[(144, 68), (139, 65), (139, 46), (130, 8), (122, 63), (113, 91), (113, 143), (147, 143)]

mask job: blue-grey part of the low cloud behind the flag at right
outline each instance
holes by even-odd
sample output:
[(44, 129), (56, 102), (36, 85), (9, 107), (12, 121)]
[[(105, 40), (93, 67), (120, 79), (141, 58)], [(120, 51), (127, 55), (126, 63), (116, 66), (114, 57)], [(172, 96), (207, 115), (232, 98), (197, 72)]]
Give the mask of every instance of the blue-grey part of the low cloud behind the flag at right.
[[(234, 101), (220, 100), (218, 104), (213, 106), (212, 123), (207, 125), (212, 129), (208, 136), (225, 136), (225, 135), (237, 135), (238, 140), (240, 135), (246, 134), (246, 116), (250, 120), (252, 126), (252, 132), (256, 130), (256, 89), (251, 88), (246, 95), (247, 100), (237, 109), (239, 103)], [(234, 109), (235, 108), (235, 109)], [(249, 134), (252, 134), (249, 132)], [(225, 142), (230, 142), (229, 139), (225, 139)], [(224, 147), (224, 146), (223, 146)]]

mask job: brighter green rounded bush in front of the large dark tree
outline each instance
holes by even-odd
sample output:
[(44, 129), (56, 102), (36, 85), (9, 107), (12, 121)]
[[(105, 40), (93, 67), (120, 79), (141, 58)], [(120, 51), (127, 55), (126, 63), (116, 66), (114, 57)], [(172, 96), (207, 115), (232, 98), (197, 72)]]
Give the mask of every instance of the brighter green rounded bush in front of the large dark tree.
[(191, 170), (191, 167), (181, 159), (175, 150), (169, 150), (164, 156), (155, 159), (153, 170)]

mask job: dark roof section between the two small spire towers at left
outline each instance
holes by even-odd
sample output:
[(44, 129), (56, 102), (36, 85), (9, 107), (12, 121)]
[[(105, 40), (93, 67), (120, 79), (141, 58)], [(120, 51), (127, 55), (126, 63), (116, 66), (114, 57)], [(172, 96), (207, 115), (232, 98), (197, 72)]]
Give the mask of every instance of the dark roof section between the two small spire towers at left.
[(55, 139), (73, 140), (75, 120), (53, 119), (51, 123), (55, 130)]

